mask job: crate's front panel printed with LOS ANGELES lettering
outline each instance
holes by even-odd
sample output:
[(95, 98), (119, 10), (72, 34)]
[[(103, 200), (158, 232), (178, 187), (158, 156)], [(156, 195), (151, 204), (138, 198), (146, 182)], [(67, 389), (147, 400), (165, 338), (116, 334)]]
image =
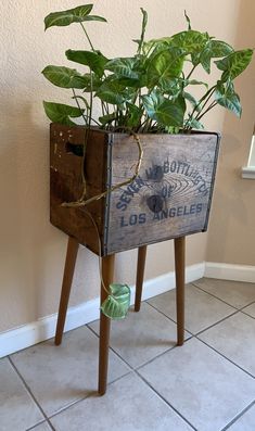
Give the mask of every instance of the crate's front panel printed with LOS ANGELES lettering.
[[(111, 193), (107, 253), (206, 229), (218, 136), (141, 135), (139, 177)], [(138, 161), (132, 137), (115, 135), (113, 185), (130, 178)]]

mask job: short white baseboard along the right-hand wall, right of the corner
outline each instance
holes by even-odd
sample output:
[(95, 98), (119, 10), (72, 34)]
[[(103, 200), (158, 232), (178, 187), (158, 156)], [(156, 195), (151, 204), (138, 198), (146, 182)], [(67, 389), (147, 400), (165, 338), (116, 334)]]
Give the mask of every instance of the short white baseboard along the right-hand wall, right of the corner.
[(255, 283), (255, 266), (205, 263), (205, 277)]

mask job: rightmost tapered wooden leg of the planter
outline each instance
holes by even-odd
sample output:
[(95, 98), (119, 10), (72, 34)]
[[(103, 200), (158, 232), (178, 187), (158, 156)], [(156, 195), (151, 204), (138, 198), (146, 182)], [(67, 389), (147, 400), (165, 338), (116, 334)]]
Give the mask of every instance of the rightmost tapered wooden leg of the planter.
[(177, 345), (184, 342), (184, 269), (186, 238), (175, 239), (176, 264), (176, 306), (177, 306)]

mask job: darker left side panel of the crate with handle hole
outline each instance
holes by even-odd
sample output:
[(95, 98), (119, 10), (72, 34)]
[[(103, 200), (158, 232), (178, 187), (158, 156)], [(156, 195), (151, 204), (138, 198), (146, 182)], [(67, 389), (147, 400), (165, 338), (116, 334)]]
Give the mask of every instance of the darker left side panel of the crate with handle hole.
[[(63, 202), (78, 200), (82, 192), (81, 165), (85, 134), (84, 127), (51, 125), (50, 219), (55, 227), (99, 253), (98, 236), (86, 211), (88, 210), (92, 215), (102, 239), (104, 200), (90, 204), (88, 208), (61, 206)], [(92, 130), (88, 139), (85, 163), (88, 198), (97, 195), (105, 189), (106, 147), (107, 135)]]

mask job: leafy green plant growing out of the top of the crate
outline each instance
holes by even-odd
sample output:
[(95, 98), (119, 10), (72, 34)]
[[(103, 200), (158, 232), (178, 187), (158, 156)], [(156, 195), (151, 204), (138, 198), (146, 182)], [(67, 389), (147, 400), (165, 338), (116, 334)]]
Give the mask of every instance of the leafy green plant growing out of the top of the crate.
[[(82, 117), (86, 126), (93, 124), (107, 130), (178, 132), (180, 129), (202, 129), (201, 119), (216, 105), (241, 116), (242, 107), (233, 80), (251, 62), (252, 49), (234, 51), (225, 41), (193, 30), (187, 14), (187, 30), (145, 41), (148, 14), (141, 9), (141, 36), (133, 40), (136, 54), (110, 60), (94, 48), (85, 26), (90, 21), (106, 21), (91, 15), (92, 8), (93, 4), (86, 4), (51, 13), (44, 18), (46, 29), (79, 23), (90, 48), (65, 52), (69, 61), (82, 65), (81, 73), (55, 65), (42, 71), (53, 85), (72, 89), (76, 102), (76, 106), (43, 102), (52, 122), (73, 125), (71, 118)], [(195, 77), (195, 72), (202, 67), (209, 74), (212, 59), (218, 59), (214, 65), (221, 74), (209, 87)], [(194, 86), (203, 89), (197, 100), (192, 94)], [(94, 98), (101, 105), (99, 118), (93, 117)]]

